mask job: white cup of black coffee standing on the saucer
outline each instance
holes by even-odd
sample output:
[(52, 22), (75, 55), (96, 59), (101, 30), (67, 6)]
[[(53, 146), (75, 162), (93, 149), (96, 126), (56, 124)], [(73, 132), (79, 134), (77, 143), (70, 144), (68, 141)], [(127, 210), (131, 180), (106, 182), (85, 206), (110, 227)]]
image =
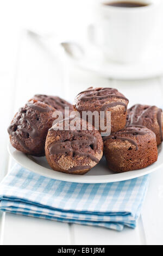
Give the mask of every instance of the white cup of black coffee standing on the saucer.
[[(143, 7), (113, 7), (106, 3), (138, 2)], [(159, 0), (97, 0), (95, 22), (89, 37), (104, 52), (105, 57), (116, 62), (137, 62), (150, 44), (156, 25)]]

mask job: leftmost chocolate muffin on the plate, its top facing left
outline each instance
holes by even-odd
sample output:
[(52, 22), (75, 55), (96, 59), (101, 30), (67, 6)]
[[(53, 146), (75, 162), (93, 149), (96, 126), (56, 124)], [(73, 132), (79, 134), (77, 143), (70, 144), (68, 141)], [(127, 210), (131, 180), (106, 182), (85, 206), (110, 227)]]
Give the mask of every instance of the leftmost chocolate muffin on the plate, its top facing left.
[(30, 100), (15, 114), (8, 128), (10, 142), (25, 154), (45, 155), (48, 129), (53, 124), (55, 109), (43, 102)]

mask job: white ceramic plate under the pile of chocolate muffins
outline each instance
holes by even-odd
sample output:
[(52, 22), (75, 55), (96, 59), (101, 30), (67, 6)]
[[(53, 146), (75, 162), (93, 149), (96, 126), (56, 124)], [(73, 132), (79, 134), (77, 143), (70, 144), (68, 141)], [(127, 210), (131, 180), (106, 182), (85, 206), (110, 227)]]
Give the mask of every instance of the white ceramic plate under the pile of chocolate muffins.
[(163, 149), (161, 148), (161, 146), (159, 147), (158, 161), (144, 169), (133, 170), (126, 173), (113, 173), (108, 170), (105, 159), (103, 158), (96, 167), (92, 168), (90, 172), (86, 173), (85, 175), (66, 174), (52, 170), (46, 161), (46, 157), (34, 157), (25, 155), (22, 152), (17, 151), (15, 148), (13, 148), (10, 143), (8, 145), (8, 150), (10, 155), (17, 163), (21, 164), (22, 167), (31, 170), (34, 173), (52, 179), (80, 183), (108, 183), (134, 179), (139, 176), (152, 173), (155, 170), (161, 168), (161, 166), (163, 165)]

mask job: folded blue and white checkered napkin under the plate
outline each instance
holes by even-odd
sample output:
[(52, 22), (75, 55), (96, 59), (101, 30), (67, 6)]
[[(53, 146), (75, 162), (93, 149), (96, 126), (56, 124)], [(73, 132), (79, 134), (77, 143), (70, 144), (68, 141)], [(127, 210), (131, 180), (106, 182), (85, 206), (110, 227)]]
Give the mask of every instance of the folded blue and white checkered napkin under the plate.
[(0, 210), (116, 230), (135, 228), (147, 187), (148, 175), (80, 184), (45, 178), (16, 164), (0, 185)]

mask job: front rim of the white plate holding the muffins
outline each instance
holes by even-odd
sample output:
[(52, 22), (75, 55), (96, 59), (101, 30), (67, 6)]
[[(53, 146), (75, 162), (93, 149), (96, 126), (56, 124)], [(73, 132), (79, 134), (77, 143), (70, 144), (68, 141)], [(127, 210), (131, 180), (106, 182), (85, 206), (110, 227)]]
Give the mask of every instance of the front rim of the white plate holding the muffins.
[[(21, 151), (18, 151), (14, 147), (12, 147), (10, 142), (8, 143), (7, 148), (8, 148), (8, 152), (9, 152), (10, 156), (18, 164), (20, 164), (23, 168), (26, 168), (26, 169), (30, 170), (31, 172), (34, 172), (36, 174), (45, 176), (47, 178), (60, 180), (60, 181), (67, 181), (67, 182), (76, 182), (76, 183), (101, 184), (101, 183), (112, 183), (112, 182), (131, 180), (131, 179), (135, 179), (135, 178), (138, 178), (140, 176), (144, 176), (144, 175), (147, 175), (149, 173), (155, 172), (155, 170), (159, 169), (163, 165), (163, 157), (162, 157), (162, 162), (159, 164), (159, 166), (157, 165), (154, 168), (149, 169), (149, 170), (147, 169), (148, 167), (146, 167), (146, 168), (143, 168), (143, 169), (140, 169), (140, 170), (133, 170), (133, 171), (130, 171), (130, 172), (115, 173), (115, 174), (109, 174), (109, 175), (67, 174), (67, 173), (58, 172), (56, 170), (51, 170), (51, 169), (48, 169), (44, 166), (39, 165), (38, 163), (29, 159), (29, 157), (26, 154), (24, 154)], [(12, 153), (13, 149), (16, 151), (17, 154)], [(162, 154), (163, 154), (163, 149), (161, 151), (162, 151)], [(161, 158), (161, 156), (160, 156), (160, 158)], [(20, 159), (27, 160), (27, 165), (24, 164), (23, 161), (21, 162)], [(39, 168), (40, 170), (37, 170), (38, 166), (40, 166), (40, 168)], [(153, 166), (154, 166), (154, 163), (153, 163)], [(36, 167), (36, 169), (34, 167)], [(145, 170), (145, 169), (147, 169), (147, 170), (142, 172), (142, 170)]]

